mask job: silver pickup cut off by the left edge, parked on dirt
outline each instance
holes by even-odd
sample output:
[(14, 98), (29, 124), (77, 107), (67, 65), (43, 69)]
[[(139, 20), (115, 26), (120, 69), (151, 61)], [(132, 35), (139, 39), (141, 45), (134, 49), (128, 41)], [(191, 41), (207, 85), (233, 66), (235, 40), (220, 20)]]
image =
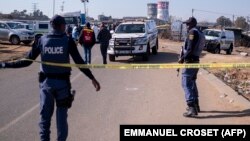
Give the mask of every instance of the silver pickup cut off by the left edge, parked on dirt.
[(20, 28), (20, 22), (0, 21), (0, 40), (9, 41), (18, 45), (20, 42), (30, 44), (35, 37), (35, 33), (28, 29)]

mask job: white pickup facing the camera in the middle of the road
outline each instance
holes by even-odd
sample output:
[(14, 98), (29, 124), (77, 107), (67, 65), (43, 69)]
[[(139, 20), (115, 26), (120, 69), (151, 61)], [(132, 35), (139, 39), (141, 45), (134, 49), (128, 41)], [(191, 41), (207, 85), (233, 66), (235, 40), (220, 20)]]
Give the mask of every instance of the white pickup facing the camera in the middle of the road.
[(110, 40), (110, 61), (118, 56), (142, 56), (149, 60), (150, 52), (158, 52), (158, 29), (154, 20), (127, 21), (119, 24)]

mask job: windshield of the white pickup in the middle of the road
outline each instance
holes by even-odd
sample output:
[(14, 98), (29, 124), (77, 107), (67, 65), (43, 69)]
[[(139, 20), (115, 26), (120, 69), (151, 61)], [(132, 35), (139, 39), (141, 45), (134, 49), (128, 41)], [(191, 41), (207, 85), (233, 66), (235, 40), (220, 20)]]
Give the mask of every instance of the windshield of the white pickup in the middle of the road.
[(145, 33), (144, 24), (123, 24), (118, 26), (115, 33)]

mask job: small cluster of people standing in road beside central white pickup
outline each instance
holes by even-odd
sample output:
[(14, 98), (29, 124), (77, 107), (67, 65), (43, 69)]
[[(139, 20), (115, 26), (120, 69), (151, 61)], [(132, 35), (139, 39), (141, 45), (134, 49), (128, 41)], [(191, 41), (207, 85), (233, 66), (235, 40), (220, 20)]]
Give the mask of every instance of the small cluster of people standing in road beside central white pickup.
[(66, 33), (69, 37), (72, 37), (76, 43), (79, 43), (83, 47), (85, 55), (84, 59), (87, 64), (91, 64), (91, 50), (98, 40), (100, 43), (103, 64), (107, 64), (107, 49), (109, 46), (109, 40), (111, 39), (111, 34), (104, 23), (101, 24), (98, 34), (95, 32), (94, 28), (91, 28), (89, 22), (86, 23), (83, 29), (79, 25), (75, 25), (73, 29), (72, 27), (67, 26)]

